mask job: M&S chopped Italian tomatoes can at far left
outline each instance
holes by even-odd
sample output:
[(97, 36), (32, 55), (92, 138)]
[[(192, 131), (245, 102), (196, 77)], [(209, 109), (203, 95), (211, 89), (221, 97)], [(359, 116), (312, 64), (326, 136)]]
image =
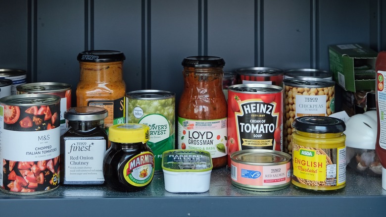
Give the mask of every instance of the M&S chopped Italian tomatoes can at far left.
[(23, 94), (0, 99), (0, 190), (46, 193), (59, 186), (60, 97)]

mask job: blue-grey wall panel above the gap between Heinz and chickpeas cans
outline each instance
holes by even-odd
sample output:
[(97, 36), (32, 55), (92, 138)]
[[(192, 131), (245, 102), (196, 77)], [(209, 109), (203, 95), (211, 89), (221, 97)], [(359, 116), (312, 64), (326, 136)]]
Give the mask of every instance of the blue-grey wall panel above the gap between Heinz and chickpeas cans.
[(264, 66), (282, 69), (310, 67), (310, 2), (264, 1)]

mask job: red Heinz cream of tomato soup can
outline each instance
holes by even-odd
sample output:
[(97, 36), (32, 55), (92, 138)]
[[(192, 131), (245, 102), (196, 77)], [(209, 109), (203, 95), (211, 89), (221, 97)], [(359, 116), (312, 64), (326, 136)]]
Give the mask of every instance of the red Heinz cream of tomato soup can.
[(228, 166), (230, 155), (235, 151), (282, 151), (283, 88), (237, 84), (228, 90)]

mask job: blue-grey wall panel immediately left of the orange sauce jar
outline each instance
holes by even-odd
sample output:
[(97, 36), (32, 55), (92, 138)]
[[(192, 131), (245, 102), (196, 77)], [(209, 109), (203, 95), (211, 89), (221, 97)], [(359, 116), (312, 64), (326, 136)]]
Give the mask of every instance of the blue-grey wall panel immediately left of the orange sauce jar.
[(79, 0), (37, 1), (37, 81), (68, 83), (75, 90), (76, 57), (85, 42), (84, 12), (84, 2)]

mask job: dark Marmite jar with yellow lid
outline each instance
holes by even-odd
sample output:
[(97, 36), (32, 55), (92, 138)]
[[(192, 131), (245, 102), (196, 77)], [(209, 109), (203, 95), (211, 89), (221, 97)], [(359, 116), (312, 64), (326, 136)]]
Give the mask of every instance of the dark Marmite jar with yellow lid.
[(144, 189), (153, 179), (154, 155), (147, 146), (150, 128), (145, 124), (116, 124), (109, 128), (111, 142), (103, 159), (103, 175), (113, 190)]

